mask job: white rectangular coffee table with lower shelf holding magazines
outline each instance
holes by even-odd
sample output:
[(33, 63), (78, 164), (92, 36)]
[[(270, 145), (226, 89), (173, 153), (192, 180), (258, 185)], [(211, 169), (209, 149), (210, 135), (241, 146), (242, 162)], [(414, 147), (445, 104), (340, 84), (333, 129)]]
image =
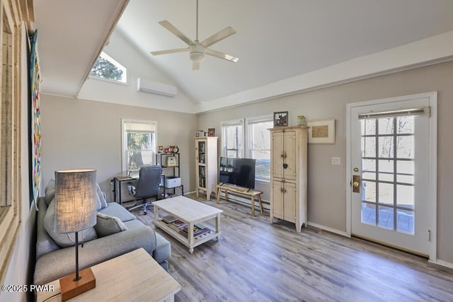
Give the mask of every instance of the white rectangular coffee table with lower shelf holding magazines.
[[(183, 245), (189, 248), (190, 254), (193, 253), (193, 248), (205, 243), (209, 240), (217, 238), (219, 240), (220, 234), (220, 214), (223, 212), (221, 209), (217, 209), (202, 202), (197, 202), (193, 199), (177, 196), (168, 199), (158, 200), (152, 203), (154, 205), (154, 225), (161, 228), (163, 231), (168, 233)], [(176, 217), (180, 221), (187, 223), (188, 225), (188, 236), (185, 237), (179, 231), (171, 228), (171, 226), (164, 221), (162, 217), (159, 217), (159, 210), (164, 211), (165, 214)], [(210, 230), (208, 233), (204, 233), (202, 236), (193, 236), (193, 226), (196, 223), (201, 223), (210, 219), (216, 219), (215, 230)], [(207, 226), (208, 227), (208, 226)]]

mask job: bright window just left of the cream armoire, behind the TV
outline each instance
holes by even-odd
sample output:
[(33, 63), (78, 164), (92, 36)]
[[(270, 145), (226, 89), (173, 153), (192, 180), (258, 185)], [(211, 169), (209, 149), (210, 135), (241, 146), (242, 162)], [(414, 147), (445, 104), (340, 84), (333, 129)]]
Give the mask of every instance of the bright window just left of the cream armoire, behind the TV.
[(247, 119), (248, 157), (256, 159), (256, 180), (270, 180), (270, 132), (272, 115)]

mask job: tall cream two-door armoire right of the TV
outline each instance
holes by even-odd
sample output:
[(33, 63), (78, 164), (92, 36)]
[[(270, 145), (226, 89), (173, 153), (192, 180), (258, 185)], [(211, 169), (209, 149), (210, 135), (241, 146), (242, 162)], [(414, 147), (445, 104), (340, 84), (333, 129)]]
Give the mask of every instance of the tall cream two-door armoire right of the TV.
[(306, 225), (307, 127), (270, 129), (270, 223)]

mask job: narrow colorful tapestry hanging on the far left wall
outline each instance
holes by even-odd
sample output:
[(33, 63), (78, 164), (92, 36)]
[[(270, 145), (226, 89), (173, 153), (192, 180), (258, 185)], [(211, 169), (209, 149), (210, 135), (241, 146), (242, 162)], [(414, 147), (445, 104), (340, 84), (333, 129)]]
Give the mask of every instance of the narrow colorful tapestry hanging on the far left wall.
[(38, 30), (30, 35), (30, 203), (38, 202), (41, 187), (41, 124), (40, 124), (40, 65), (38, 60)]

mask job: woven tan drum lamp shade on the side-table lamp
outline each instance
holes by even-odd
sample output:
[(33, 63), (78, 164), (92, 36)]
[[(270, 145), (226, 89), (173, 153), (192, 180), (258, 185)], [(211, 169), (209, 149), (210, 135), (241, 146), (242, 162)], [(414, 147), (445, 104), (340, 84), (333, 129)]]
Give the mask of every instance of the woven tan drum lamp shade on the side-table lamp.
[(79, 232), (95, 224), (96, 170), (55, 171), (55, 232)]

